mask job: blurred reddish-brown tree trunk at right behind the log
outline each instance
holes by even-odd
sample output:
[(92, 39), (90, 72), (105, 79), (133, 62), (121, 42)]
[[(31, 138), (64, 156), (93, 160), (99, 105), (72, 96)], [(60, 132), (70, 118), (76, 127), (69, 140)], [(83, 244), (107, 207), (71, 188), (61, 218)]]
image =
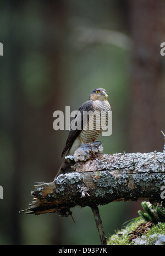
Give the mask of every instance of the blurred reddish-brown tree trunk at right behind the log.
[(129, 137), (131, 152), (162, 150), (163, 42), (162, 0), (130, 0), (131, 102)]

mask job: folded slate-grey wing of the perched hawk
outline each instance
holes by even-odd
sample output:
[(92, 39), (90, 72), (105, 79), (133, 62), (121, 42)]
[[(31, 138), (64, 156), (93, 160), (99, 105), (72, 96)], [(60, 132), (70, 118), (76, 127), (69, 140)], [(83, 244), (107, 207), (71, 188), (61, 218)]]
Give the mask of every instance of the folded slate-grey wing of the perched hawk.
[(69, 151), (72, 147), (74, 140), (79, 136), (83, 126), (87, 122), (87, 115), (83, 111), (94, 111), (94, 102), (89, 100), (84, 102), (78, 109), (73, 121), (70, 124), (70, 130), (66, 141), (65, 148), (63, 149), (62, 156)]

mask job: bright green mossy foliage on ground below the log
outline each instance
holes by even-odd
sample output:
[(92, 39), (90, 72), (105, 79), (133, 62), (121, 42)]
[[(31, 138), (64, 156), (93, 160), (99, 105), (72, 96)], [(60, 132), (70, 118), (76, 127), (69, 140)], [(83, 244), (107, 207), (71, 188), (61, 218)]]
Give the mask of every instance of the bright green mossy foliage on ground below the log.
[[(122, 230), (117, 231), (109, 237), (108, 244), (128, 245), (128, 244), (165, 244), (165, 211), (162, 204), (154, 206), (150, 202), (142, 202), (142, 208), (145, 213), (138, 211), (140, 217), (131, 220), (129, 224)], [(141, 233), (138, 237), (129, 241), (131, 232), (135, 231), (142, 223), (150, 222), (152, 226), (147, 233)]]

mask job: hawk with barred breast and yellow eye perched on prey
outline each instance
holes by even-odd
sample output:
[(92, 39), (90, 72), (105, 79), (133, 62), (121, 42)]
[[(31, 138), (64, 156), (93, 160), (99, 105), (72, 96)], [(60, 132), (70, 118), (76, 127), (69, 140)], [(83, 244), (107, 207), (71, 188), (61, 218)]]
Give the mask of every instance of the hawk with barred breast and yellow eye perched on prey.
[[(103, 88), (96, 88), (91, 91), (89, 100), (79, 107), (78, 113), (70, 124), (62, 156), (66, 152), (67, 155), (74, 155), (75, 150), (82, 144), (93, 143), (97, 140), (108, 123), (111, 106), (107, 101), (107, 97), (106, 90)], [(101, 116), (105, 118), (101, 118)], [(65, 173), (67, 164), (67, 161), (64, 160), (56, 177), (61, 173)]]

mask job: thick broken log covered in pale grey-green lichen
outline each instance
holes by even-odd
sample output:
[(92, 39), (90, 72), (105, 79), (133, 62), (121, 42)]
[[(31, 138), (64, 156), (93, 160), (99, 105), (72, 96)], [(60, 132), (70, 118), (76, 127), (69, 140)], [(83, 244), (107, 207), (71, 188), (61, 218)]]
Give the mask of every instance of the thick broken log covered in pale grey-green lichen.
[(33, 201), (25, 214), (57, 212), (72, 215), (77, 205), (108, 204), (112, 201), (145, 199), (161, 202), (165, 184), (164, 152), (98, 154), (95, 159), (75, 162), (72, 169), (51, 183), (37, 183)]

